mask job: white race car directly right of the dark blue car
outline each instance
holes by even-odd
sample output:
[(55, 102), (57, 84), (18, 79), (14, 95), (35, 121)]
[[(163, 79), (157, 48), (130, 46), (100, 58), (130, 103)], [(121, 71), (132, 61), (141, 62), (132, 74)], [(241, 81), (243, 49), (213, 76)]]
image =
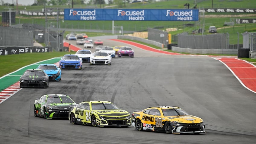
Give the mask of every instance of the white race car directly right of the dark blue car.
[(94, 52), (90, 57), (90, 64), (111, 65), (112, 57), (106, 52)]

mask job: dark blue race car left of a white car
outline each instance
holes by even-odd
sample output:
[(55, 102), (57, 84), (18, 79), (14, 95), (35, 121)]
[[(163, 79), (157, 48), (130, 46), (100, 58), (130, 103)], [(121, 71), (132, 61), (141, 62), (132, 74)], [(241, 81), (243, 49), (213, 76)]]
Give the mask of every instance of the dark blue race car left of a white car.
[(64, 55), (59, 61), (61, 69), (82, 69), (82, 58), (77, 55), (67, 54)]

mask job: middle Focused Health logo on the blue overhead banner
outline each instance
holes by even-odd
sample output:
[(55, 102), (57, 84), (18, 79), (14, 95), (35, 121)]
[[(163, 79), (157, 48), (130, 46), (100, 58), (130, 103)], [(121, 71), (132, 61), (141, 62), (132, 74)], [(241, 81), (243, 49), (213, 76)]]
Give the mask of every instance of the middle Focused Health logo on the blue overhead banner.
[(118, 10), (117, 16), (129, 16), (129, 21), (144, 21), (144, 10), (142, 11), (123, 11)]

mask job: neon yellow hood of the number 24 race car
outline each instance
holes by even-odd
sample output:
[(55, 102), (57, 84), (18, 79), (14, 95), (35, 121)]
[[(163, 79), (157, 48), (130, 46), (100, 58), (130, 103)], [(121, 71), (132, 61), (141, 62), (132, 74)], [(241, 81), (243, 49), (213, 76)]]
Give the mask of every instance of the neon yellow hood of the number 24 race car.
[(110, 116), (110, 117), (126, 116), (129, 114), (126, 110), (94, 110), (94, 112), (96, 112), (101, 116)]

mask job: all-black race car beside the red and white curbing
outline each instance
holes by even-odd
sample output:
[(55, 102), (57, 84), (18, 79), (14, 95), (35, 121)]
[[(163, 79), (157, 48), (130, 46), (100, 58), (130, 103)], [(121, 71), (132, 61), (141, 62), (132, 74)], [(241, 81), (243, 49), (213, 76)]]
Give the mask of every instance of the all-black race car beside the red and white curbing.
[(20, 88), (48, 88), (49, 76), (41, 69), (27, 69), (20, 77)]

